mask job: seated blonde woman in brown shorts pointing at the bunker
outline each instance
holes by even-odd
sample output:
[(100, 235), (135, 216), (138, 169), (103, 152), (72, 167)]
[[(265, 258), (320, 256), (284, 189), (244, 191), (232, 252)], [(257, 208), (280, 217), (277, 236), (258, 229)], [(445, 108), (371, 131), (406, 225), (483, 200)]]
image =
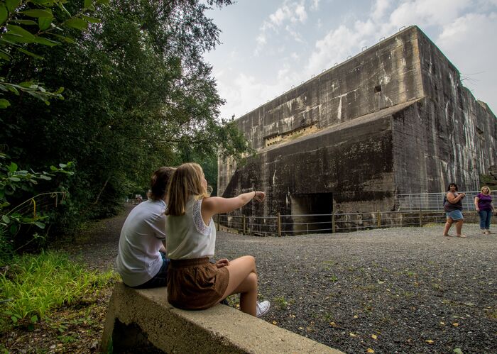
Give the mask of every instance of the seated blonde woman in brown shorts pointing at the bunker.
[(207, 309), (231, 294), (240, 294), (240, 309), (262, 316), (269, 302), (257, 302), (256, 261), (251, 255), (209, 263), (216, 245), (212, 216), (263, 201), (264, 192), (234, 198), (209, 197), (202, 167), (185, 163), (171, 177), (165, 214), (168, 234), (168, 301), (180, 309)]

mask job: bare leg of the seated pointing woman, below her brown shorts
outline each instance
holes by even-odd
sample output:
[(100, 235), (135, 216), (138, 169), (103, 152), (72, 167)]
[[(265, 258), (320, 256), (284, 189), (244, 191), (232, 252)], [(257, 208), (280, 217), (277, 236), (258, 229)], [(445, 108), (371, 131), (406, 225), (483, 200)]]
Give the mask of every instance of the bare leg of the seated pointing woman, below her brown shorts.
[(231, 260), (226, 265), (229, 271), (229, 283), (224, 297), (240, 294), (240, 309), (246, 314), (256, 316), (257, 274), (256, 260), (251, 255)]

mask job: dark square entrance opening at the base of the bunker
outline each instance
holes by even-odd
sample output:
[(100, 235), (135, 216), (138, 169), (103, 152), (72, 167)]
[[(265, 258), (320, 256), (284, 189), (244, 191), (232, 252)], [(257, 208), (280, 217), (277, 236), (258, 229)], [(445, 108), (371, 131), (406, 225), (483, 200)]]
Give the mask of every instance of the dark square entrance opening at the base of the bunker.
[(293, 234), (332, 232), (333, 193), (293, 194), (290, 199)]

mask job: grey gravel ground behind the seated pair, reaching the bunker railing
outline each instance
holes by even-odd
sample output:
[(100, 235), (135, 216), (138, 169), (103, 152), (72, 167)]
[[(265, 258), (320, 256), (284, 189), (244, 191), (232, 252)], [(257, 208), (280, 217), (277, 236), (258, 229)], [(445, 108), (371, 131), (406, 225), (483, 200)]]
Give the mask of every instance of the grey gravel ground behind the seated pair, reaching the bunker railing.
[[(129, 212), (132, 206), (126, 206)], [(114, 267), (127, 212), (72, 245)], [(283, 238), (218, 232), (217, 258), (254, 255), (263, 318), (346, 353), (497, 353), (497, 234), (466, 224)]]

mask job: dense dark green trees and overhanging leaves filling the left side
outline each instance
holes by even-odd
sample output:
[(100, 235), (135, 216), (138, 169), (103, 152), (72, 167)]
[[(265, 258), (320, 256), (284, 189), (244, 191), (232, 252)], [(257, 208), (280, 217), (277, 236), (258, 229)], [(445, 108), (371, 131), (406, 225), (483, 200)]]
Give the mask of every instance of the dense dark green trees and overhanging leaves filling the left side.
[(0, 1), (4, 165), (43, 176), (71, 161), (74, 172), (18, 189), (0, 219), (35, 194), (63, 190), (43, 235), (67, 235), (87, 219), (116, 214), (126, 196), (145, 195), (157, 167), (191, 160), (204, 165), (215, 191), (217, 155), (249, 149), (234, 123), (219, 117), (224, 101), (203, 58), (219, 43), (204, 13), (229, 4)]

